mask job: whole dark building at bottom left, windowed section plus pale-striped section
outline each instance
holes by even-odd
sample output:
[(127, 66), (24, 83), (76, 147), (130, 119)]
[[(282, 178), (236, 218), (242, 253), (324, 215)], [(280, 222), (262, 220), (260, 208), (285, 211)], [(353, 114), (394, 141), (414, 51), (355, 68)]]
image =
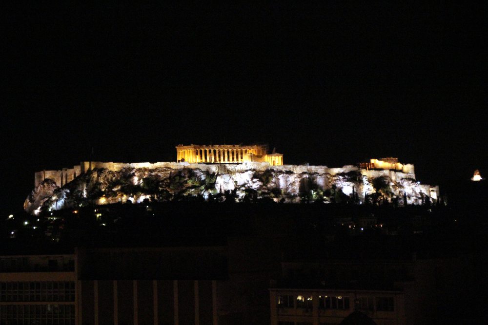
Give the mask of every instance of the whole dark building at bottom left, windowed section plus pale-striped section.
[(215, 325), (220, 247), (0, 256), (0, 324)]

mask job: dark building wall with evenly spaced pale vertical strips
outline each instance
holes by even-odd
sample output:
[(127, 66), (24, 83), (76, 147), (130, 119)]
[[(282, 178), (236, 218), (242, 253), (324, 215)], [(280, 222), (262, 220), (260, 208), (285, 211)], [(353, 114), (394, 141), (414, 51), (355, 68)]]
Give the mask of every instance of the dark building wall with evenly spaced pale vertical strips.
[[(78, 324), (213, 325), (211, 280), (82, 280)], [(80, 323), (81, 322), (81, 323)]]

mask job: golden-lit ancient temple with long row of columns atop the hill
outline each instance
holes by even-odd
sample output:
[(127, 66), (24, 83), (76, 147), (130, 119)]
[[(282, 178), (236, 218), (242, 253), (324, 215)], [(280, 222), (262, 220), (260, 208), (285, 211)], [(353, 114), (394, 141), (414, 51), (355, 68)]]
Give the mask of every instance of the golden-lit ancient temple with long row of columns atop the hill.
[(268, 153), (267, 145), (194, 145), (176, 147), (176, 160), (188, 163), (268, 162), (283, 165), (282, 153)]

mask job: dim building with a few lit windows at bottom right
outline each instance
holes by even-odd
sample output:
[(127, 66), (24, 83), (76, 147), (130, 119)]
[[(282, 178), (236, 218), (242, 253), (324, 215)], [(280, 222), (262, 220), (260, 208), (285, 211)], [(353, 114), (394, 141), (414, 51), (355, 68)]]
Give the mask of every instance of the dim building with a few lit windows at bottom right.
[(354, 311), (378, 325), (418, 324), (436, 308), (434, 266), (415, 256), (283, 262), (269, 289), (271, 325), (340, 324)]

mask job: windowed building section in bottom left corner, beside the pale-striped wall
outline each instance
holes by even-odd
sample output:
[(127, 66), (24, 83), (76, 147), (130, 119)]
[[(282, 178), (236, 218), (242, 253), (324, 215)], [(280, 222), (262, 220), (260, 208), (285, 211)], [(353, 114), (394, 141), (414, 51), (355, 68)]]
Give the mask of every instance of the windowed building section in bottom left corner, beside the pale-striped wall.
[(73, 255), (0, 257), (0, 324), (76, 324)]

